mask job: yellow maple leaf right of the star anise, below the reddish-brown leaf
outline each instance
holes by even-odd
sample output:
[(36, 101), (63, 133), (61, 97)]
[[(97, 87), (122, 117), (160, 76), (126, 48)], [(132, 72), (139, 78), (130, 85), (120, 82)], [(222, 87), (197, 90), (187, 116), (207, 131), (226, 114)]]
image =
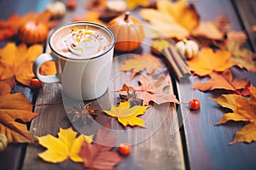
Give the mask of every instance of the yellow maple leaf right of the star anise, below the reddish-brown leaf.
[(143, 115), (148, 107), (150, 106), (135, 105), (130, 108), (130, 101), (125, 101), (120, 102), (118, 107), (111, 105), (110, 111), (103, 112), (108, 116), (117, 117), (118, 121), (125, 127), (127, 125), (145, 127), (143, 119), (137, 116)]

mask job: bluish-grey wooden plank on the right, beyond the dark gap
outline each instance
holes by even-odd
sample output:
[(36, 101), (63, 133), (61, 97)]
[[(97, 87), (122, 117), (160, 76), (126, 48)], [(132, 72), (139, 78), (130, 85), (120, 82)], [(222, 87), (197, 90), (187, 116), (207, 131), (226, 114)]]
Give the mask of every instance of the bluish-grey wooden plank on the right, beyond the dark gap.
[[(241, 30), (229, 1), (198, 1), (195, 2), (195, 8), (201, 14), (202, 20), (207, 17), (214, 19), (219, 14), (224, 14), (228, 16), (232, 29)], [(232, 68), (231, 71), (234, 77), (247, 77), (255, 86), (255, 74), (237, 68)], [(234, 139), (236, 131), (244, 124), (228, 122), (225, 125), (214, 126), (214, 123), (220, 120), (225, 111), (217, 103), (207, 98), (216, 98), (221, 92), (202, 93), (192, 88), (195, 82), (202, 81), (207, 81), (207, 78), (193, 76), (177, 83), (181, 101), (188, 102), (193, 98), (201, 101), (201, 108), (197, 111), (189, 111), (188, 105), (180, 105), (179, 108), (183, 115), (183, 129), (190, 169), (254, 169), (256, 166), (254, 159), (256, 144), (229, 145)]]

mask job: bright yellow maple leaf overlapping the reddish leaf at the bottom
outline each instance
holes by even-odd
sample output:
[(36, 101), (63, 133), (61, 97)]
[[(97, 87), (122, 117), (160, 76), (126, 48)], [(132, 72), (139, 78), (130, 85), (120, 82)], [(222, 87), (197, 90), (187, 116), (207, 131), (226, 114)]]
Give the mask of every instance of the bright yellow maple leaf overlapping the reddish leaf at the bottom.
[(83, 158), (79, 156), (79, 151), (84, 142), (91, 143), (91, 136), (79, 135), (73, 131), (72, 127), (67, 129), (60, 128), (58, 133), (59, 138), (47, 134), (43, 137), (38, 137), (38, 143), (44, 146), (47, 150), (39, 153), (38, 156), (44, 161), (58, 163), (70, 158), (75, 162), (83, 162)]

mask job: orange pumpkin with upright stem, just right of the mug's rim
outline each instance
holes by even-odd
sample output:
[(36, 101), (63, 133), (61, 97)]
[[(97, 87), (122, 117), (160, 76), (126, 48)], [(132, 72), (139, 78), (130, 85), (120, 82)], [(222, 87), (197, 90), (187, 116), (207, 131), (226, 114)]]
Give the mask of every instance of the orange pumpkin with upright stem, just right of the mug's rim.
[(122, 14), (108, 23), (115, 38), (114, 48), (121, 52), (133, 51), (140, 47), (144, 39), (143, 25), (140, 20), (130, 16), (129, 12)]

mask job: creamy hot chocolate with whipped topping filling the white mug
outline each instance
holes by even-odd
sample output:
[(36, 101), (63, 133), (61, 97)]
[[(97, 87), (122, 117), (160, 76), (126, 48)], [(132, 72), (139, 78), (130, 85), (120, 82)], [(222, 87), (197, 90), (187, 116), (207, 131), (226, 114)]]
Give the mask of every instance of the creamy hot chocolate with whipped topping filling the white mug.
[(91, 59), (106, 52), (113, 43), (107, 31), (93, 25), (63, 27), (51, 38), (55, 51), (69, 59)]

